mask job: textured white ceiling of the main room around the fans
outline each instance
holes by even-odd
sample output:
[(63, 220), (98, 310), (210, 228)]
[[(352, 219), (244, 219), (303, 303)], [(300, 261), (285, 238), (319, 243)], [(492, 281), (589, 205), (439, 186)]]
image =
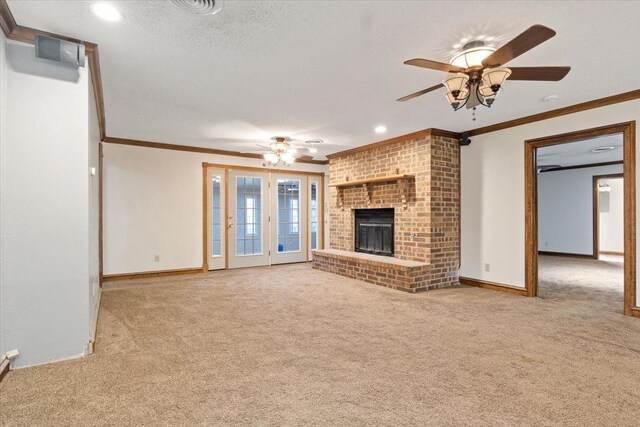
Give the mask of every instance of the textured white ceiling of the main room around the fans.
[[(274, 135), (320, 154), (436, 127), (465, 131), (638, 88), (640, 2), (233, 1), (191, 16), (168, 2), (9, 1), (19, 24), (100, 46), (107, 135), (246, 151)], [(437, 71), (462, 39), (500, 45), (533, 24), (557, 36), (513, 66), (570, 65), (561, 82), (508, 82), (493, 108), (454, 113)], [(555, 103), (542, 101), (557, 94)], [(385, 135), (373, 129), (383, 124)]]

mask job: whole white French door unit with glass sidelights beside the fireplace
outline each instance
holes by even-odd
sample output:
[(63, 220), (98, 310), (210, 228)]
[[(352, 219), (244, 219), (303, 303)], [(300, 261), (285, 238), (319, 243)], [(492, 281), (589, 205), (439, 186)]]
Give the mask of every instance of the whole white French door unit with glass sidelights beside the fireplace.
[(304, 262), (323, 247), (323, 177), (204, 163), (204, 270)]

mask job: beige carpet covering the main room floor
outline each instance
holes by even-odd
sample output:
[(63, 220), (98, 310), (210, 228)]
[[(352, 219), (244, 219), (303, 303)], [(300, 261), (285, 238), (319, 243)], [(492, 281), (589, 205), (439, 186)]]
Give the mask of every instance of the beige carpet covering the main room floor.
[(634, 425), (640, 319), (298, 264), (104, 292), (94, 355), (10, 372), (4, 425)]

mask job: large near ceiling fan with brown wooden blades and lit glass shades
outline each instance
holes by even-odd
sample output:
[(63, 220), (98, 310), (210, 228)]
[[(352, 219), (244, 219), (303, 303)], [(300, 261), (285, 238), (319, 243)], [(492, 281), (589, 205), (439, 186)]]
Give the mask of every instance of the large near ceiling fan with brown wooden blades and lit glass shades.
[(454, 111), (466, 106), (473, 108), (475, 113), (475, 108), (478, 105), (491, 107), (506, 79), (562, 80), (569, 73), (571, 67), (504, 67), (507, 62), (555, 35), (556, 32), (551, 28), (544, 25), (533, 25), (497, 50), (485, 46), (484, 42), (480, 40), (467, 43), (462, 51), (453, 57), (450, 64), (420, 58), (405, 61), (404, 63), (407, 65), (445, 71), (449, 75), (441, 84), (403, 96), (398, 101), (408, 101), (441, 87), (446, 87), (445, 98)]

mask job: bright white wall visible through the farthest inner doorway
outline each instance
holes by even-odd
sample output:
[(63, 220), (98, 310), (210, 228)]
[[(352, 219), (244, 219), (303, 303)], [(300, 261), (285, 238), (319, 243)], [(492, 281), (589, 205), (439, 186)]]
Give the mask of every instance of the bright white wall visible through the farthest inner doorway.
[(609, 184), (610, 191), (600, 203), (600, 251), (624, 253), (624, 179), (602, 179)]

